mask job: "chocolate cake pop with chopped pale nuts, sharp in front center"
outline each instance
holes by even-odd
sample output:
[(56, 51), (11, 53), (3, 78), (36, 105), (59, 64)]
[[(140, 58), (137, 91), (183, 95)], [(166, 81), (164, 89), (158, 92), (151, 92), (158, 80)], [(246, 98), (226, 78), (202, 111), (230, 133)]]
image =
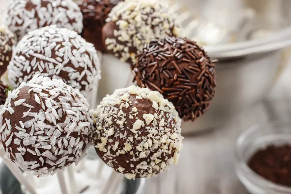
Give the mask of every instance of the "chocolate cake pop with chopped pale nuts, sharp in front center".
[(150, 178), (178, 162), (181, 119), (160, 93), (136, 86), (117, 89), (93, 115), (97, 154), (126, 178)]

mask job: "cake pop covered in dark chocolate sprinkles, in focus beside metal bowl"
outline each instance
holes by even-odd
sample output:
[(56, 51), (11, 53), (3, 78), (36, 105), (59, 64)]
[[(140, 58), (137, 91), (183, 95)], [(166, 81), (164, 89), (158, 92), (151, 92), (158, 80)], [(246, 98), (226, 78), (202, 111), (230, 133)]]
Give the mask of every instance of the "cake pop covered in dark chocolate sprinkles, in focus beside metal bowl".
[(215, 93), (215, 63), (194, 41), (163, 37), (152, 40), (133, 65), (140, 87), (159, 91), (184, 121), (194, 121), (210, 105)]

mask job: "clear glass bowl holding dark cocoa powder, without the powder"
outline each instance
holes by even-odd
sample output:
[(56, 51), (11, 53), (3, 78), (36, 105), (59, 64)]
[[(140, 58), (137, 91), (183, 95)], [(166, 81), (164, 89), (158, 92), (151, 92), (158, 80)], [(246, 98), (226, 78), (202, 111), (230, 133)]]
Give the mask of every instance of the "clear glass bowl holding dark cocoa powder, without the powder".
[(291, 144), (291, 123), (256, 125), (239, 137), (235, 148), (236, 174), (250, 194), (291, 194), (291, 187), (275, 184), (259, 176), (247, 165), (249, 158), (257, 150), (283, 144)]

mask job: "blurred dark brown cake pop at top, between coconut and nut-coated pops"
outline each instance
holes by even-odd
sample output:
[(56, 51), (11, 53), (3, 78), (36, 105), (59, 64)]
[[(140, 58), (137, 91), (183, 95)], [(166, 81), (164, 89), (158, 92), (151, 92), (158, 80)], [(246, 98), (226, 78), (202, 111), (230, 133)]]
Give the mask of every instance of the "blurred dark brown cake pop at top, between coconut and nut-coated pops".
[(79, 7), (83, 14), (82, 37), (94, 44), (97, 50), (105, 51), (102, 43), (102, 28), (112, 8), (123, 0), (82, 0)]

